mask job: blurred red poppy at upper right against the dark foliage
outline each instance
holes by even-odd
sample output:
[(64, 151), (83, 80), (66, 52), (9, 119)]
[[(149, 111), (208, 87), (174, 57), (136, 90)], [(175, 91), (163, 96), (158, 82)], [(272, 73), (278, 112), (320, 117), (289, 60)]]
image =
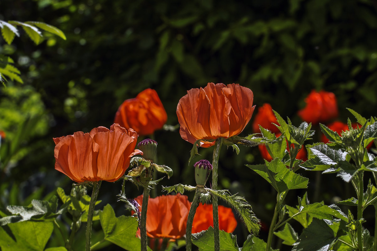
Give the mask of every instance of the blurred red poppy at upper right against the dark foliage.
[(338, 105), (334, 93), (312, 90), (305, 102), (307, 103), (305, 108), (298, 112), (305, 122), (316, 124), (338, 117)]

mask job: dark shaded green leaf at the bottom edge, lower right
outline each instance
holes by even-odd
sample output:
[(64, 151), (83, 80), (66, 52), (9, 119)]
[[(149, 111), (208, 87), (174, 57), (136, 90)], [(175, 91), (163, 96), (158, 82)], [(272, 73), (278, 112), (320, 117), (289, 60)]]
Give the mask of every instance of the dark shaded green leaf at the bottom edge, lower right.
[[(332, 224), (331, 227), (330, 224)], [(338, 240), (338, 229), (339, 223), (326, 223), (324, 220), (314, 218), (311, 224), (302, 231), (297, 242), (293, 244), (292, 251), (328, 251)]]

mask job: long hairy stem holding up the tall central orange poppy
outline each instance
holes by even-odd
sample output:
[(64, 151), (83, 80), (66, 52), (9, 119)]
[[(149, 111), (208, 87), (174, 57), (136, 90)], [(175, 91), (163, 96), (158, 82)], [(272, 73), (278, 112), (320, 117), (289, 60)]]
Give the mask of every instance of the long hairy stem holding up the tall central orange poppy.
[[(213, 169), (212, 169), (212, 189), (217, 190), (217, 178), (218, 178), (218, 167), (219, 167), (219, 155), (220, 148), (222, 144), (222, 138), (216, 139), (215, 151), (213, 151)], [(219, 230), (219, 204), (217, 197), (212, 195), (212, 206), (213, 206), (213, 231), (215, 239), (215, 251), (220, 250), (220, 230)]]

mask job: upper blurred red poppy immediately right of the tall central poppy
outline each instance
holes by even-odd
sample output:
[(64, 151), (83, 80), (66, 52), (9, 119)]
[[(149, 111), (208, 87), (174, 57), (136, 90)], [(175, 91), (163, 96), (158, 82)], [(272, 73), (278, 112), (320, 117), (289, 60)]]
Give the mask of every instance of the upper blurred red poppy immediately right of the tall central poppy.
[(258, 113), (255, 116), (254, 122), (253, 122), (253, 132), (258, 133), (261, 132), (259, 130), (259, 125), (261, 125), (263, 128), (270, 130), (272, 133), (280, 132), (279, 129), (277, 129), (276, 126), (274, 126), (272, 123), (276, 125), (280, 125), (275, 117), (274, 112), (272, 111), (272, 107), (269, 103), (264, 103), (262, 107), (258, 108)]

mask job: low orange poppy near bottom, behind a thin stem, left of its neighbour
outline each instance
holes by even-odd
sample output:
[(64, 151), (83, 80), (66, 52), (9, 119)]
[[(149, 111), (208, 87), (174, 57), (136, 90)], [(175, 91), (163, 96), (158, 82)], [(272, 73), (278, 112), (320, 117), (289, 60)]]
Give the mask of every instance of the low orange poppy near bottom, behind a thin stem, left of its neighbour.
[[(135, 198), (139, 210), (143, 195)], [(147, 236), (151, 238), (179, 239), (186, 234), (187, 216), (191, 203), (185, 195), (161, 195), (149, 198), (147, 209)]]

